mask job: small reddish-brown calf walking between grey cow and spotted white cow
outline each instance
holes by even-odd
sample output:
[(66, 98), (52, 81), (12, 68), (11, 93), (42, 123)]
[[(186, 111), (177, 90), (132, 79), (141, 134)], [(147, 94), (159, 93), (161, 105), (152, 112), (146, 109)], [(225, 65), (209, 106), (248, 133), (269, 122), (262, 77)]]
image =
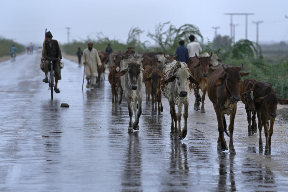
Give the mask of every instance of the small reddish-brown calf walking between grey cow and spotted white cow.
[[(160, 89), (160, 79), (162, 76), (162, 71), (159, 69), (153, 69), (150, 73), (151, 75), (146, 78), (145, 82), (148, 83), (148, 88), (151, 92), (151, 100), (152, 100), (152, 115), (157, 114), (157, 102), (158, 102), (158, 115), (163, 112), (163, 106), (162, 106), (162, 95), (161, 95), (161, 89)], [(154, 110), (154, 102), (155, 102), (155, 110)], [(160, 107), (161, 104), (161, 107)]]

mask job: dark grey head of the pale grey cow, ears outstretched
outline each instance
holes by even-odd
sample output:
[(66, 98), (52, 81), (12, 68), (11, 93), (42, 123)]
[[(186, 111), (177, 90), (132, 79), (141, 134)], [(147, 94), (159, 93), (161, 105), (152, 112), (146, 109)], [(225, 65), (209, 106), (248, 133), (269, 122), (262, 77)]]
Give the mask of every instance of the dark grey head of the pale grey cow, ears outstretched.
[(129, 63), (128, 68), (121, 70), (119, 73), (117, 73), (117, 76), (123, 76), (128, 72), (128, 82), (130, 85), (130, 88), (132, 90), (136, 90), (138, 88), (138, 80), (140, 77), (140, 72), (144, 69), (140, 67), (137, 63)]

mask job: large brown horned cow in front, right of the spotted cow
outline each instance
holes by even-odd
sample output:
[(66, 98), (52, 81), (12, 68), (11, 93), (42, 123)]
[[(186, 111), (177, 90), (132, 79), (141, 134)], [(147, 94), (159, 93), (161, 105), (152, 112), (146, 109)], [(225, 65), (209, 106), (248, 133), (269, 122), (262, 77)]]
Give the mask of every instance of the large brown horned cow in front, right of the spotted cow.
[[(219, 137), (217, 150), (228, 150), (223, 134), (225, 131), (228, 136), (230, 134), (230, 154), (236, 154), (233, 146), (233, 131), (237, 102), (241, 99), (241, 77), (249, 74), (240, 71), (242, 67), (243, 64), (239, 67), (218, 64), (217, 66), (209, 67), (208, 70), (208, 97), (213, 103), (218, 121)], [(224, 114), (230, 115), (229, 134), (227, 133)]]

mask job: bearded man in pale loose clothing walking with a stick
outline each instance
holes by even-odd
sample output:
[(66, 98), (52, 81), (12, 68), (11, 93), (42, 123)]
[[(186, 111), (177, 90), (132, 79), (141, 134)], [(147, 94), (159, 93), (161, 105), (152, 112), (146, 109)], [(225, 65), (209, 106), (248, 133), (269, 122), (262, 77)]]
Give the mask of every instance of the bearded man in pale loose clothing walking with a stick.
[[(94, 85), (96, 83), (96, 78), (98, 76), (98, 66), (101, 66), (101, 60), (98, 55), (98, 51), (93, 48), (93, 43), (89, 42), (88, 48), (84, 49), (83, 55), (85, 58), (85, 67), (86, 67), (86, 88), (90, 87), (90, 90), (94, 90)], [(89, 82), (90, 81), (90, 82)], [(91, 84), (91, 85), (90, 85)]]

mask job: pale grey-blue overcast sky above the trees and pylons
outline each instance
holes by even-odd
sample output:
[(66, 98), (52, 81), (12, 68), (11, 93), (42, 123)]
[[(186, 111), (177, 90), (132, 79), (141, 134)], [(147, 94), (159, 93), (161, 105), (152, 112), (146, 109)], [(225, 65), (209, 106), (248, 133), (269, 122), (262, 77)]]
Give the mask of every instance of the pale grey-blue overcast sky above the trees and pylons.
[[(205, 2), (205, 3), (204, 3)], [(170, 21), (176, 27), (189, 23), (199, 27), (204, 37), (214, 38), (212, 26), (220, 26), (217, 33), (230, 35), (230, 16), (224, 13), (254, 13), (248, 16), (248, 39), (256, 41), (256, 25), (259, 24), (259, 42), (288, 40), (288, 1), (266, 0), (1, 0), (0, 36), (28, 45), (44, 41), (45, 28), (53, 38), (67, 43), (67, 29), (70, 27), (70, 41), (96, 38), (103, 32), (110, 39), (126, 42), (131, 27), (145, 32), (141, 41), (149, 40), (147, 32), (155, 32), (159, 22)], [(245, 16), (233, 16), (236, 41), (245, 38)]]

